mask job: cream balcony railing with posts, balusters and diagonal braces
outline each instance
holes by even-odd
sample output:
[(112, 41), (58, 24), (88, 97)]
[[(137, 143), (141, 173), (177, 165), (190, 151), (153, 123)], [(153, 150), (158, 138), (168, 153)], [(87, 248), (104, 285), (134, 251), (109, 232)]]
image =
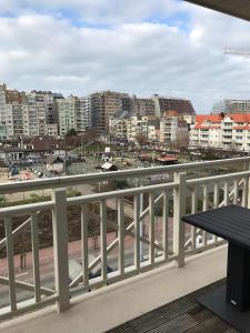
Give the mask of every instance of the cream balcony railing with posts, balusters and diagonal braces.
[[(224, 168), (223, 174), (211, 175)], [(236, 168), (237, 172), (227, 171)], [(214, 171), (217, 170), (217, 171)], [(90, 193), (67, 198), (67, 186), (117, 179), (138, 179), (169, 174), (169, 182), (129, 188), (103, 193)], [(172, 175), (172, 176), (171, 176)], [(188, 255), (207, 251), (223, 243), (223, 240), (187, 228), (181, 216), (187, 213), (206, 211), (229, 203), (249, 206), (250, 158), (221, 160), (182, 165), (137, 169), (77, 176), (54, 178), (0, 185), (0, 193), (14, 193), (52, 189), (51, 200), (46, 202), (8, 206), (0, 209), (6, 236), (0, 241), (0, 250), (8, 263), (7, 274), (0, 276), (0, 284), (8, 286), (9, 304), (0, 310), (0, 317), (36, 310), (50, 303), (63, 311), (70, 306), (70, 296), (106, 284), (116, 283), (136, 274), (153, 270), (156, 266), (177, 261), (181, 268)], [(142, 200), (143, 198), (143, 200)], [(142, 202), (144, 201), (144, 204)], [(108, 219), (107, 208), (117, 208), (114, 219)], [(67, 209), (80, 208), (81, 212), (81, 272), (69, 283), (69, 250)], [(90, 218), (94, 206), (100, 228), (100, 251), (90, 261), (88, 235)], [(52, 212), (54, 284), (42, 285), (39, 258), (39, 215)], [(126, 216), (130, 214), (130, 220)], [(18, 228), (12, 228), (13, 218), (29, 218)], [(33, 276), (30, 281), (17, 276), (14, 242), (30, 228)], [(109, 241), (110, 229), (117, 236)], [(112, 272), (108, 271), (110, 255), (117, 262)], [(128, 254), (130, 260), (128, 261)], [(2, 261), (1, 260), (1, 261)], [(90, 272), (101, 269), (100, 276), (90, 279)], [(32, 292), (26, 301), (19, 300), (18, 291)]]

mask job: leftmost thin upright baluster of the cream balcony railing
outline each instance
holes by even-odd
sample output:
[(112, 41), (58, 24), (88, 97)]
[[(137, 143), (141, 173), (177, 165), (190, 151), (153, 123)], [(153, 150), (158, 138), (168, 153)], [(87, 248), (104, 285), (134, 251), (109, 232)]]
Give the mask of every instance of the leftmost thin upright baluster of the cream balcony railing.
[(9, 297), (11, 311), (17, 310), (17, 296), (14, 285), (14, 263), (13, 263), (13, 239), (12, 239), (12, 222), (9, 216), (4, 218), (6, 240), (7, 240), (7, 261), (9, 273)]

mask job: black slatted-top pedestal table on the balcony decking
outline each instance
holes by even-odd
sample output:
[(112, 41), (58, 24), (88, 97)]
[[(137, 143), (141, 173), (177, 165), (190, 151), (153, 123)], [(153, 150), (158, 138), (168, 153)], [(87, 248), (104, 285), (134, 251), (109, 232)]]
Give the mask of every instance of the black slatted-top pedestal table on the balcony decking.
[(232, 204), (182, 221), (229, 242), (227, 283), (198, 302), (240, 332), (250, 332), (250, 209)]

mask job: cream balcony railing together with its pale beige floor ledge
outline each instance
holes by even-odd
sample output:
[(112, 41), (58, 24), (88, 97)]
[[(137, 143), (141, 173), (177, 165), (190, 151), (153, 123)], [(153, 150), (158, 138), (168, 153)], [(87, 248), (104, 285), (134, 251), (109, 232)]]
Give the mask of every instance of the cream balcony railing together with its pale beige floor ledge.
[[(226, 242), (186, 226), (181, 216), (230, 203), (249, 206), (249, 178), (250, 158), (240, 158), (1, 184), (4, 195), (46, 191), (49, 200), (0, 209), (0, 293), (7, 300), (0, 331), (103, 332), (223, 279)], [(97, 193), (94, 184), (121, 179), (129, 188)], [(67, 196), (69, 186), (81, 195)], [(97, 246), (89, 236), (93, 220)], [(79, 226), (70, 242), (69, 224)], [(44, 249), (43, 233), (51, 233), (53, 246)], [(29, 268), (20, 272), (23, 234)], [(73, 278), (69, 260), (80, 265)]]

